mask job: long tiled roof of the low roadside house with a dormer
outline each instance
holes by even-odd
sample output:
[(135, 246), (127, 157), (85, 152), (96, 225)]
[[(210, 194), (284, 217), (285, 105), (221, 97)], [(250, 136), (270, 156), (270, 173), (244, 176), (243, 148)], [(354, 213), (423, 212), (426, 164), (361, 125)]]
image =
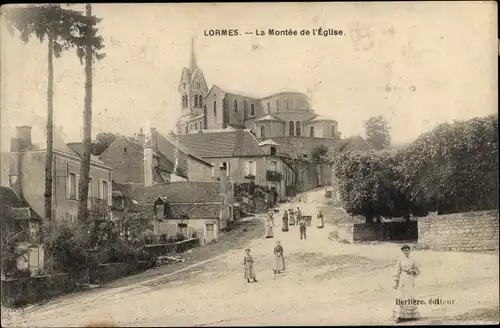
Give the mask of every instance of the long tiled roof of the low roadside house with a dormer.
[(180, 181), (151, 187), (134, 186), (131, 198), (153, 204), (158, 197), (165, 197), (169, 203), (221, 202), (220, 182)]

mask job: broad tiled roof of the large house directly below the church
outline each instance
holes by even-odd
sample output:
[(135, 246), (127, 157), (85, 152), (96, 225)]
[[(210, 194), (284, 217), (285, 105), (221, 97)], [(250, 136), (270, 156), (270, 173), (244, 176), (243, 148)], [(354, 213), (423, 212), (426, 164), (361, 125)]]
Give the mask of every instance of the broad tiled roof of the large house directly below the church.
[(179, 141), (204, 158), (263, 156), (259, 140), (244, 130), (178, 136)]

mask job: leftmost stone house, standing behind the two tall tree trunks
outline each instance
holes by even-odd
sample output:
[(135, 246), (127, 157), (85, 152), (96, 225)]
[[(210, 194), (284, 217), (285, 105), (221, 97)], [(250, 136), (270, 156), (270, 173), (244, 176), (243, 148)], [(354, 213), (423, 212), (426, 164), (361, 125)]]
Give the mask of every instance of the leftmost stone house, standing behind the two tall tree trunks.
[[(42, 134), (45, 134), (44, 130)], [(10, 151), (2, 154), (1, 182), (3, 186), (11, 187), (37, 215), (43, 217), (47, 151), (44, 141), (37, 143), (31, 137), (31, 126), (17, 127), (17, 135), (11, 139)], [(67, 144), (55, 131), (52, 161), (52, 217), (76, 220), (81, 149), (72, 148), (72, 144)], [(89, 207), (100, 206), (105, 210), (105, 215), (111, 217), (112, 168), (91, 156), (90, 179)]]

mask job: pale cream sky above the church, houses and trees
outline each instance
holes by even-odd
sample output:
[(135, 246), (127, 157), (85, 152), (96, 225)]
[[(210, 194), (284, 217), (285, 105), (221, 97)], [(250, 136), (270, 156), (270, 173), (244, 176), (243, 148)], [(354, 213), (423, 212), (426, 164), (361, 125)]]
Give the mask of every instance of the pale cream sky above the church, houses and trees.
[[(191, 38), (209, 88), (264, 97), (309, 96), (343, 137), (383, 115), (394, 143), (442, 122), (497, 112), (496, 2), (94, 4), (106, 57), (94, 65), (93, 135), (133, 134), (147, 122), (168, 133)], [(2, 7), (4, 8), (4, 6)], [(84, 10), (83, 4), (74, 5)], [(47, 45), (24, 44), (1, 25), (1, 146), (15, 126), (43, 126)], [(342, 36), (256, 36), (255, 30), (342, 30)], [(239, 36), (205, 36), (238, 29)], [(81, 141), (84, 68), (74, 50), (54, 62), (55, 124)], [(36, 134), (36, 133), (35, 133)], [(38, 134), (43, 139), (43, 133)], [(34, 138), (36, 136), (34, 135)], [(6, 148), (7, 147), (7, 148)]]

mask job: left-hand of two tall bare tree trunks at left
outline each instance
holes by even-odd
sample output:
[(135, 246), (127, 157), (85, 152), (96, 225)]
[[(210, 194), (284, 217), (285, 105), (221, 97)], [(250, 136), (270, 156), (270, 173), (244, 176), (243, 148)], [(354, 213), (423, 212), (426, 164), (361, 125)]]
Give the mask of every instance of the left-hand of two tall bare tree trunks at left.
[(52, 160), (54, 139), (54, 57), (53, 37), (49, 35), (48, 81), (47, 81), (47, 156), (45, 158), (45, 219), (52, 220)]

